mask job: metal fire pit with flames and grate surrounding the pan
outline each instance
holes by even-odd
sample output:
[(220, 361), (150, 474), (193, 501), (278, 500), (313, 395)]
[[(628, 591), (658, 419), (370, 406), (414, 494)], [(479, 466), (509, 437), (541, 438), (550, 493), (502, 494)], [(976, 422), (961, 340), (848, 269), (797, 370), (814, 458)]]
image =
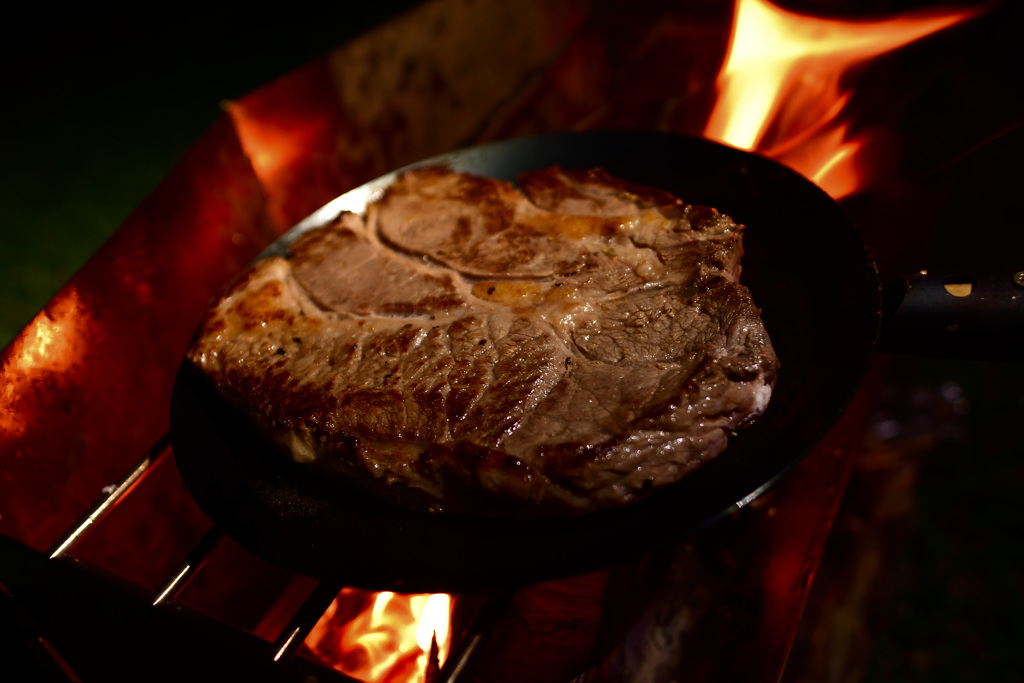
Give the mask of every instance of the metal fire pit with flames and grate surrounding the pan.
[[(884, 271), (923, 267), (934, 212), (907, 223), (893, 207), (928, 207), (934, 187), (913, 176), (1019, 124), (1024, 109), (941, 101), (945, 117), (915, 115), (931, 111), (937, 91), (966, 87), (943, 78), (969, 79), (985, 61), (935, 69), (936, 54), (965, 42), (983, 49), (1004, 10), (892, 18), (893, 8), (871, 6), (888, 18), (861, 23), (852, 12), (808, 18), (806, 7), (794, 16), (743, 0), (729, 52), (728, 9), (427, 2), (225, 104), (3, 352), (0, 582), (15, 655), (71, 680), (109, 677), (117, 666), (180, 677), (207, 658), (214, 672), (282, 680), (471, 672), (601, 681), (641, 671), (662, 680), (684, 670), (705, 680), (778, 678), (883, 368), (777, 489), (725, 522), (583, 577), (455, 596), (454, 609), (446, 596), (317, 582), (221, 538), (182, 487), (164, 438), (179, 359), (226, 279), (341, 191), (475, 141), (623, 127), (707, 134), (777, 158), (844, 199)], [(779, 42), (758, 47), (751, 36)], [(763, 51), (744, 57), (744, 47)], [(744, 78), (768, 82), (737, 71), (744, 61), (764, 66), (797, 47), (829, 58), (773, 65), (780, 89), (760, 105), (730, 99), (754, 90)], [(1001, 103), (1020, 102), (1010, 92)], [(947, 148), (933, 151), (947, 128)], [(119, 665), (96, 654), (108, 636), (129, 652)]]

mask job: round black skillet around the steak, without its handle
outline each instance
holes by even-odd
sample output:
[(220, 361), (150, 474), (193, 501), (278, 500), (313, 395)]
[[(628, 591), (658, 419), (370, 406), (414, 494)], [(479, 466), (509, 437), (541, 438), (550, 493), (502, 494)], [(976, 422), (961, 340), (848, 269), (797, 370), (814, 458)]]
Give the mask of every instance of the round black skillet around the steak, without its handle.
[[(716, 460), (648, 500), (531, 521), (407, 512), (339, 489), (269, 452), (182, 366), (171, 434), (200, 507), (243, 546), (350, 586), (458, 592), (567, 575), (677, 541), (753, 500), (803, 458), (860, 383), (879, 332), (880, 287), (855, 228), (821, 189), (759, 156), (652, 132), (557, 134), (485, 144), (422, 164), (515, 180), (532, 168), (602, 166), (635, 183), (716, 207), (748, 226), (742, 282), (781, 361), (768, 411)], [(356, 209), (386, 176), (296, 230)], [(264, 254), (268, 253), (264, 252)]]

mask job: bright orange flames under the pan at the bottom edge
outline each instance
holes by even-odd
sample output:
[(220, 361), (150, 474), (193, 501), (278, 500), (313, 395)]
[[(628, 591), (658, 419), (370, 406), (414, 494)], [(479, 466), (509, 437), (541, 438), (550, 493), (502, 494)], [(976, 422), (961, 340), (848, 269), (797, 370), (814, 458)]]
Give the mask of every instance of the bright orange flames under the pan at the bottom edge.
[(447, 656), (451, 618), (452, 599), (442, 593), (346, 588), (305, 644), (325, 663), (367, 683), (423, 683), (428, 668), (439, 667)]

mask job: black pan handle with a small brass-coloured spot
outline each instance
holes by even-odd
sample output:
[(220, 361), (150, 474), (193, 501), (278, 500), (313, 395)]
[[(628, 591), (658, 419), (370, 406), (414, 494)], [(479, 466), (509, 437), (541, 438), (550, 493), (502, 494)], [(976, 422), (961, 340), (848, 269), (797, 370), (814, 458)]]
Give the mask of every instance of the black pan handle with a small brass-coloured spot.
[(1024, 270), (899, 278), (882, 288), (886, 353), (1024, 360)]

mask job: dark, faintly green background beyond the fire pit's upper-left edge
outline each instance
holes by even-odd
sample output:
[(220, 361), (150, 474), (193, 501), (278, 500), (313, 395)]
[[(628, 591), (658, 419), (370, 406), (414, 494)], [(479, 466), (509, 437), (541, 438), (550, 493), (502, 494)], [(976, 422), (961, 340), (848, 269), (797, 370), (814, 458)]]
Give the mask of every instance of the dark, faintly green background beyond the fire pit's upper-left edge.
[(0, 347), (220, 114), (417, 4), (25, 7), (0, 96)]

